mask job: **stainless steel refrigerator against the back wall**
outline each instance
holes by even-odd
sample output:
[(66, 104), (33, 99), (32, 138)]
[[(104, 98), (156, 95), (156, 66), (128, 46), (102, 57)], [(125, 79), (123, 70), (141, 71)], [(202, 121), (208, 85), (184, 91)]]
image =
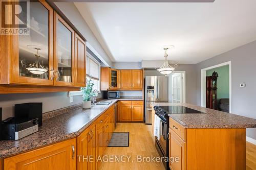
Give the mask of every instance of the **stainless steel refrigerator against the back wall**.
[(152, 103), (168, 102), (168, 77), (146, 76), (145, 77), (145, 124), (152, 124)]

